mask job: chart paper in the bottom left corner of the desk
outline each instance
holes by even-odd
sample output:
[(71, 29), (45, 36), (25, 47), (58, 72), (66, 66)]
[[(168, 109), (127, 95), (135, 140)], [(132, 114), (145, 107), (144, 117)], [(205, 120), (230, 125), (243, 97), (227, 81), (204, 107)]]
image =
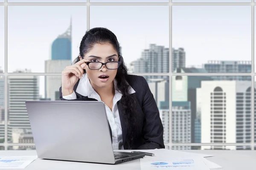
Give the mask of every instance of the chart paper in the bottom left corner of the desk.
[(38, 156), (3, 156), (0, 157), (0, 169), (23, 169)]

